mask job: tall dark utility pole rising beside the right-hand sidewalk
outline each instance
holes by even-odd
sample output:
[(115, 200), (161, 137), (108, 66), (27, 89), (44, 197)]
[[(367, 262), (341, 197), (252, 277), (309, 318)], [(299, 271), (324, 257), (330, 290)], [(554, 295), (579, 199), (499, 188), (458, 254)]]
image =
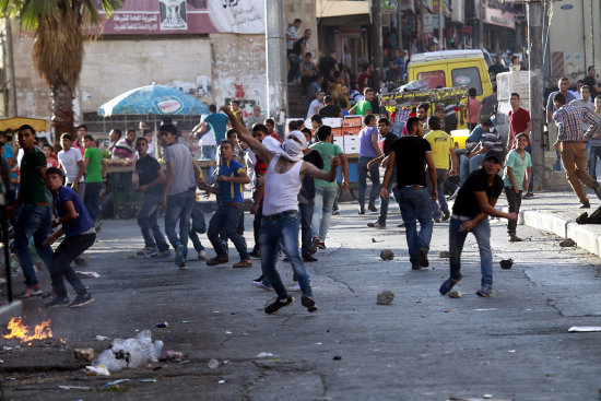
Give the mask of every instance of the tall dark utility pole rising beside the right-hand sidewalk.
[(532, 173), (535, 190), (546, 185), (543, 140), (543, 4), (540, 0), (528, 1), (528, 48), (530, 49), (530, 113), (532, 120)]

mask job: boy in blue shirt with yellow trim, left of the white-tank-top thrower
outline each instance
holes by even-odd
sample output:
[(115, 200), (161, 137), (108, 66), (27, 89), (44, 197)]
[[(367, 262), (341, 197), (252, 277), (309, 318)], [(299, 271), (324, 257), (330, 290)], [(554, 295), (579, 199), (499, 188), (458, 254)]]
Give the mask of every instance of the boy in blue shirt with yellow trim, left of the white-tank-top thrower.
[(217, 187), (201, 185), (202, 189), (220, 197), (220, 207), (209, 222), (207, 236), (215, 249), (216, 256), (207, 261), (208, 266), (227, 263), (227, 249), (220, 239), (220, 232), (225, 228), (227, 237), (234, 243), (240, 255), (240, 261), (233, 268), (251, 268), (252, 261), (246, 248), (244, 237), (238, 233), (238, 224), (244, 214), (243, 186), (250, 182), (250, 178), (240, 163), (234, 160), (234, 143), (225, 140), (221, 143), (221, 165), (219, 166)]

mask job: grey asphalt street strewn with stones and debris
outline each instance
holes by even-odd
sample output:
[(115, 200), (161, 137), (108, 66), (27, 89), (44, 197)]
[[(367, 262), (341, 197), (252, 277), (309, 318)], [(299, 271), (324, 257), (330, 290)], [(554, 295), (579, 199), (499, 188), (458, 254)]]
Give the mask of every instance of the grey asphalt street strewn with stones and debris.
[[(448, 250), (447, 223), (435, 224), (431, 268), (411, 271), (404, 231), (397, 228), (397, 207), (391, 207), (386, 231), (366, 227), (375, 214), (356, 215), (354, 203), (341, 207), (327, 250), (318, 251), (319, 261), (309, 264), (319, 306), (315, 314), (300, 306), (295, 293), (294, 305), (266, 315), (262, 308), (274, 294), (250, 285), (259, 275), (257, 260), (248, 270), (190, 261), (187, 271), (178, 271), (172, 260), (129, 259), (142, 247), (135, 221), (105, 222), (89, 252), (92, 263), (83, 269), (101, 274), (85, 280), (96, 302), (81, 309), (50, 310), (44, 309), (42, 299), (25, 303), (25, 322), (50, 318), (54, 339), (2, 351), (7, 398), (599, 398), (601, 333), (567, 332), (571, 326), (601, 326), (599, 257), (559, 248), (561, 238), (527, 226), (518, 227), (527, 240), (510, 244), (504, 222), (494, 221), (494, 296), (475, 295), (479, 255), (470, 236), (463, 253), (466, 278), (456, 286), (463, 297), (451, 299), (438, 294), (448, 276), (448, 259), (439, 258)], [(250, 216), (246, 227), (251, 245)], [(208, 240), (203, 244), (210, 247)], [(394, 251), (393, 261), (380, 260), (386, 248)], [(515, 260), (514, 268), (502, 270), (498, 261), (508, 258)], [(237, 255), (231, 258), (237, 260)], [(280, 272), (292, 283), (286, 263), (280, 263)], [(40, 276), (49, 290), (47, 273)], [(14, 280), (19, 288), (21, 280)], [(394, 291), (391, 305), (376, 305), (381, 290)], [(164, 320), (168, 328), (154, 327)], [(158, 370), (142, 366), (107, 378), (86, 377), (81, 371), (85, 363), (73, 358), (74, 347), (93, 347), (97, 354), (105, 350), (109, 341), (95, 341), (97, 334), (131, 338), (143, 329), (165, 342), (163, 353), (184, 352), (189, 363), (160, 362), (152, 364), (161, 366)], [(2, 339), (2, 344), (17, 342)], [(273, 356), (258, 357), (261, 352)], [(220, 362), (217, 368), (209, 368), (211, 358)], [(120, 378), (131, 381), (103, 387)], [(156, 382), (139, 381), (148, 378)], [(59, 385), (91, 390), (62, 390)]]

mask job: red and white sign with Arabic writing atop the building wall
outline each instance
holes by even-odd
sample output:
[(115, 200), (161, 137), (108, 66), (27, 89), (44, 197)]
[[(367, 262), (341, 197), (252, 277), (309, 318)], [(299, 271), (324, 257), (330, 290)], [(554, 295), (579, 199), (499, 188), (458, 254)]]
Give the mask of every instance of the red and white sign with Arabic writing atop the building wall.
[(264, 0), (123, 0), (102, 27), (103, 35), (264, 32)]

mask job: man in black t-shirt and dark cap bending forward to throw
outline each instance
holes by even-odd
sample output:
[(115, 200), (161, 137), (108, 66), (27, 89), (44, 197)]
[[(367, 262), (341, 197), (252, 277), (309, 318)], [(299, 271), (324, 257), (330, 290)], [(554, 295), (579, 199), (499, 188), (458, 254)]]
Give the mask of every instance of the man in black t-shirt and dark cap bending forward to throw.
[(503, 179), (498, 176), (502, 168), (502, 154), (488, 151), (482, 162), (482, 168), (471, 173), (459, 189), (449, 223), (450, 278), (440, 285), (439, 291), (443, 295), (463, 278), (461, 251), (469, 232), (475, 236), (480, 250), (482, 286), (476, 294), (486, 297), (493, 295), (493, 252), (488, 216), (518, 220), (517, 213), (504, 213), (495, 209), (498, 196), (503, 191)]

